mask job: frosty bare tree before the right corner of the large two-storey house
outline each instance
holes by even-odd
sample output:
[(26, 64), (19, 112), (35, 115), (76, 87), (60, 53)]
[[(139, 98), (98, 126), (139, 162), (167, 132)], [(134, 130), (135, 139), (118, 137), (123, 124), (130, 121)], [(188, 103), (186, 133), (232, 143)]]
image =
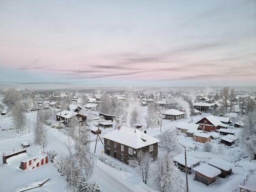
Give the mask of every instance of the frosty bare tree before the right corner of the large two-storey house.
[(149, 153), (138, 152), (137, 158), (128, 161), (129, 165), (134, 167), (135, 172), (141, 176), (142, 181), (146, 184), (150, 176), (150, 167), (153, 163), (153, 157)]

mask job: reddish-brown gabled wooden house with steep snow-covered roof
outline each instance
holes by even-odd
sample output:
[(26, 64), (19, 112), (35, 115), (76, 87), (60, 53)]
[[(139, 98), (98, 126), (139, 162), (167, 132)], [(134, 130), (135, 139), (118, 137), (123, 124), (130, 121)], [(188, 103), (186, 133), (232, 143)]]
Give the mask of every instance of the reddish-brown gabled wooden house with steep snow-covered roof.
[(217, 119), (213, 115), (202, 118), (196, 124), (200, 124), (203, 131), (206, 131), (206, 132), (216, 131), (220, 128), (228, 127), (227, 124), (224, 124), (224, 123), (220, 122), (220, 120)]

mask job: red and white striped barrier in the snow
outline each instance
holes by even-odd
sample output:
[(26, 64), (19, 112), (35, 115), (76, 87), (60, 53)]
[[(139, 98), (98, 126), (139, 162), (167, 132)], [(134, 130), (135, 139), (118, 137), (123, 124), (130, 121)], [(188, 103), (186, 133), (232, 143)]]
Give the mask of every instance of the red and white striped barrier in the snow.
[(22, 170), (30, 170), (35, 167), (39, 167), (40, 165), (44, 165), (46, 163), (48, 163), (48, 156), (42, 154), (40, 157), (29, 159), (27, 161), (21, 161), (19, 168)]

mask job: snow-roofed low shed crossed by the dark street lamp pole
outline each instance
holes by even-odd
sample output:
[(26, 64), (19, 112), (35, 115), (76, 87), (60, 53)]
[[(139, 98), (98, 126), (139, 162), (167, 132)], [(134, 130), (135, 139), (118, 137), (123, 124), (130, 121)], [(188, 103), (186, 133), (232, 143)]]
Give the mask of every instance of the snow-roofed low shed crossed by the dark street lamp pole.
[[(200, 160), (186, 155), (186, 159), (187, 159), (187, 174), (191, 174), (193, 171), (193, 167), (199, 166)], [(176, 164), (176, 166), (185, 173), (185, 155), (184, 154), (180, 154), (177, 155), (175, 157), (173, 157), (174, 163)]]

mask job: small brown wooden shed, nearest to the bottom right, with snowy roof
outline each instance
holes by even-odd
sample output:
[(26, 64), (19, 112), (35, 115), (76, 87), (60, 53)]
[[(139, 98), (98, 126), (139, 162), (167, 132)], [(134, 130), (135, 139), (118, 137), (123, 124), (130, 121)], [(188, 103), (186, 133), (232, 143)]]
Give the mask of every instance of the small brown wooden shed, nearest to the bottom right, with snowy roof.
[(195, 180), (207, 186), (211, 183), (214, 183), (218, 179), (218, 176), (221, 174), (220, 169), (206, 163), (195, 167), (194, 170)]

